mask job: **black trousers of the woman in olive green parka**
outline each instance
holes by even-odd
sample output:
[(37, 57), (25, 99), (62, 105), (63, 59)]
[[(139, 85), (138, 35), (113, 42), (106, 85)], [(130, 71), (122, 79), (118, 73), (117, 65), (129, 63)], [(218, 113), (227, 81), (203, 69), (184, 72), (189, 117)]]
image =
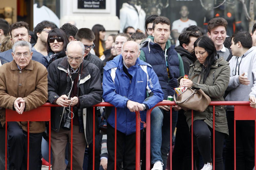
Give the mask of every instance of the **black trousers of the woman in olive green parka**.
[[(204, 164), (212, 163), (213, 156), (213, 129), (203, 120), (195, 120), (193, 126), (194, 136), (197, 138), (198, 150)], [(215, 169), (224, 170), (223, 165), (223, 144), (225, 134), (215, 130)]]

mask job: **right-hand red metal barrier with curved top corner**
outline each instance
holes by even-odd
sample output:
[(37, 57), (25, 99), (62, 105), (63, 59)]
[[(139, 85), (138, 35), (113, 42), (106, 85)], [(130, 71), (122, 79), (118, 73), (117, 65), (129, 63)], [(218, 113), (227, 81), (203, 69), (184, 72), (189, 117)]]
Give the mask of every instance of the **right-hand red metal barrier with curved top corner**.
[[(150, 114), (151, 111), (157, 106), (175, 106), (174, 101), (164, 101), (157, 103), (153, 108), (147, 111), (146, 116), (146, 170), (150, 170)], [(255, 132), (256, 132), (256, 114), (255, 109), (250, 107), (249, 101), (212, 101), (210, 106), (213, 106), (213, 113), (215, 113), (215, 106), (234, 106), (234, 170), (236, 170), (236, 120), (254, 120), (255, 121)], [(246, 114), (239, 114), (245, 112)], [(172, 109), (170, 109), (170, 115), (172, 115)], [(245, 116), (246, 115), (246, 116)], [(191, 112), (191, 167), (194, 169), (194, 156), (193, 156), (193, 110)], [(170, 133), (172, 133), (172, 116), (170, 116)], [(170, 134), (170, 146), (172, 146), (172, 134)], [(256, 135), (255, 135), (255, 146), (256, 146)], [(256, 149), (255, 149), (256, 155)], [(213, 116), (213, 158), (215, 158), (215, 116)], [(212, 163), (213, 170), (215, 170), (215, 159)], [(256, 167), (256, 156), (255, 156), (255, 167)], [(172, 152), (170, 152), (170, 170), (172, 169)]]

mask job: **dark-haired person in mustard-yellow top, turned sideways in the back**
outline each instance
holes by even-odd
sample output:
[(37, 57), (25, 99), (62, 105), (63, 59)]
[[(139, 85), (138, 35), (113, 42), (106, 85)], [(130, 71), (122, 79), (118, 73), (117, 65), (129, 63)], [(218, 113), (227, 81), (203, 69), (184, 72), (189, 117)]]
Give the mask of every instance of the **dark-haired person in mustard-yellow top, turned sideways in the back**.
[(93, 48), (95, 51), (95, 55), (101, 57), (103, 55), (103, 51), (105, 50), (105, 34), (106, 30), (103, 25), (96, 24), (92, 27), (92, 31), (95, 35), (95, 40), (93, 41), (95, 47)]

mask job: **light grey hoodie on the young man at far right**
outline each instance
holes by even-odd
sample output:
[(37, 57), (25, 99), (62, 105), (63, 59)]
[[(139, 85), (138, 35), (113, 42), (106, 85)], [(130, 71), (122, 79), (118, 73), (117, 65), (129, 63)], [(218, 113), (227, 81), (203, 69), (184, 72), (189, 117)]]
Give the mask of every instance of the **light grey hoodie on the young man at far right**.
[[(251, 47), (241, 57), (233, 56), (229, 60), (230, 80), (227, 91), (230, 91), (226, 101), (249, 101), (250, 96), (256, 97), (256, 47)], [(239, 70), (236, 72), (237, 70)], [(240, 84), (238, 77), (243, 72), (248, 73), (249, 85)], [(228, 110), (234, 110), (234, 106), (227, 106)]]

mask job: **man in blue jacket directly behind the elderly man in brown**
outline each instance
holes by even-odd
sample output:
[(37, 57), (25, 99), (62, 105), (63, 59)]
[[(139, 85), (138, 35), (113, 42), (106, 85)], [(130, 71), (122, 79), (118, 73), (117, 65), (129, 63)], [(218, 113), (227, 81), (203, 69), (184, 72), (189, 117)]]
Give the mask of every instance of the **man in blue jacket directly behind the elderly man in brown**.
[[(14, 44), (17, 41), (27, 41), (30, 42), (31, 36), (29, 35), (29, 28), (28, 23), (24, 21), (15, 22), (12, 25), (10, 25), (10, 34), (11, 34), (11, 41)], [(41, 53), (38, 53), (35, 50), (33, 51), (32, 60), (38, 61), (44, 66), (48, 66), (48, 64), (45, 62), (44, 56)], [(5, 58), (8, 61), (12, 61), (12, 49), (9, 49), (7, 51), (4, 51), (0, 53), (0, 56)]]

